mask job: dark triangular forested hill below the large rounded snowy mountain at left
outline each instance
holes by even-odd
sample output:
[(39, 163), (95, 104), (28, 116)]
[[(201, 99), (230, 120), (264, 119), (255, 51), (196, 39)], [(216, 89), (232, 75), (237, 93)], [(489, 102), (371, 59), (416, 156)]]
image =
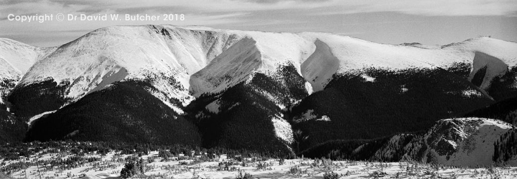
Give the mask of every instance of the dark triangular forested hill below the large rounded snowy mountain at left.
[[(199, 145), (201, 137), (190, 121), (133, 80), (107, 89), (33, 122), (25, 141), (83, 140)], [(49, 130), (50, 129), (50, 130)]]

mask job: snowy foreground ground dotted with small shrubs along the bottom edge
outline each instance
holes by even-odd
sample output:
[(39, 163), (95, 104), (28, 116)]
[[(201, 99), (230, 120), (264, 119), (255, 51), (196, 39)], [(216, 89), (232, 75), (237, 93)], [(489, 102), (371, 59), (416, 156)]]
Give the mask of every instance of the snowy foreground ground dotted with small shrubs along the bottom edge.
[[(56, 152), (16, 160), (1, 159), (0, 178), (118, 178), (131, 156), (114, 152), (104, 156)], [(244, 158), (238, 161), (225, 155), (211, 161), (200, 159), (200, 156), (163, 160), (156, 151), (139, 158), (144, 164), (144, 175), (132, 178), (237, 178), (239, 172), (249, 173), (253, 178), (517, 178), (517, 167), (456, 168), (415, 162), (307, 158)]]

